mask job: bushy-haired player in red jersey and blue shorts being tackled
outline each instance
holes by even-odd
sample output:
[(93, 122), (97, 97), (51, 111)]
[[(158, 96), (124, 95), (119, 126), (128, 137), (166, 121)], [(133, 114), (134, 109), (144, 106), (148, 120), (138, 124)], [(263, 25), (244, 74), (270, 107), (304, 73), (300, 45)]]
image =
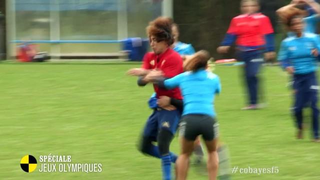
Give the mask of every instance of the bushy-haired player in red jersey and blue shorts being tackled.
[[(142, 68), (133, 68), (128, 71), (129, 75), (139, 76), (139, 86), (148, 83), (145, 80), (145, 75), (151, 69), (160, 69), (166, 78), (173, 77), (183, 71), (181, 56), (170, 48), (173, 43), (171, 28), (172, 20), (166, 17), (158, 17), (149, 23), (147, 34), (153, 52), (144, 55)], [(153, 87), (157, 98), (168, 96), (182, 99), (179, 88), (165, 90), (156, 85), (153, 85)], [(171, 162), (176, 160), (176, 155), (169, 152), (169, 145), (181, 115), (176, 107), (172, 105), (170, 107), (170, 110), (154, 108), (145, 124), (140, 146), (141, 152), (161, 158), (164, 180), (171, 179)], [(157, 141), (157, 146), (152, 144), (153, 141)]]

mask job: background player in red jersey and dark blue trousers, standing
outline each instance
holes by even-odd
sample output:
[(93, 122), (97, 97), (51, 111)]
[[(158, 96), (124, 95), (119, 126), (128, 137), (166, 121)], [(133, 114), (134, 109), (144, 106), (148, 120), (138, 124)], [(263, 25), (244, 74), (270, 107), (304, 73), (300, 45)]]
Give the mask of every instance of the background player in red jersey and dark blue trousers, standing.
[(245, 62), (244, 73), (248, 90), (248, 106), (242, 109), (258, 108), (258, 72), (265, 59), (271, 59), (274, 53), (274, 36), (270, 20), (258, 13), (257, 0), (241, 0), (241, 15), (232, 18), (227, 33), (217, 48), (218, 53), (226, 53), (236, 41), (238, 58)]

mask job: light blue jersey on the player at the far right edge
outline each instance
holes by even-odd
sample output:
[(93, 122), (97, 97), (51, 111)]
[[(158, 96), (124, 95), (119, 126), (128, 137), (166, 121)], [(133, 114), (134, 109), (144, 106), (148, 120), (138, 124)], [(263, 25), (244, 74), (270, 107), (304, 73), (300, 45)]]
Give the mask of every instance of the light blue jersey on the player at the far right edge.
[(282, 40), (278, 60), (283, 68), (293, 66), (294, 74), (306, 74), (316, 70), (317, 57), (311, 54), (316, 48), (320, 52), (320, 37), (314, 33), (303, 33), (301, 37), (290, 36)]

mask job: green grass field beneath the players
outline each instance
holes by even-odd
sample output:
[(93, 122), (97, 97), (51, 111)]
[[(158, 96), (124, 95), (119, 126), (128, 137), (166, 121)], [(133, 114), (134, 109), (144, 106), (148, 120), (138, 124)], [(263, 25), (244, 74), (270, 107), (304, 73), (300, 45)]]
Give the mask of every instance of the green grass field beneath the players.
[[(125, 75), (137, 63), (0, 63), (0, 179), (161, 179), (160, 161), (140, 154), (136, 143), (151, 110), (151, 86)], [(232, 174), (232, 179), (320, 179), (320, 144), (294, 138), (287, 75), (264, 68), (268, 106), (241, 111), (240, 70), (216, 66), (222, 93), (216, 111), (231, 166), (278, 166), (277, 174)], [(310, 120), (305, 120), (308, 125)], [(309, 127), (308, 127), (309, 129)], [(178, 152), (177, 138), (171, 151)], [(102, 163), (102, 172), (26, 173), (31, 154), (72, 155), (73, 163)], [(190, 167), (188, 179), (207, 179)]]

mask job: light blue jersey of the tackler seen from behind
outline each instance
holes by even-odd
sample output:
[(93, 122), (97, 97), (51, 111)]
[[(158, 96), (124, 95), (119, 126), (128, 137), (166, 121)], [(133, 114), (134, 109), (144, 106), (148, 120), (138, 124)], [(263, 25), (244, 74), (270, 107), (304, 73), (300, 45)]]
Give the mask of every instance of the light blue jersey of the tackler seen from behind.
[(166, 88), (179, 87), (183, 96), (183, 113), (207, 114), (215, 117), (214, 95), (220, 93), (219, 77), (205, 69), (183, 72), (164, 80)]

